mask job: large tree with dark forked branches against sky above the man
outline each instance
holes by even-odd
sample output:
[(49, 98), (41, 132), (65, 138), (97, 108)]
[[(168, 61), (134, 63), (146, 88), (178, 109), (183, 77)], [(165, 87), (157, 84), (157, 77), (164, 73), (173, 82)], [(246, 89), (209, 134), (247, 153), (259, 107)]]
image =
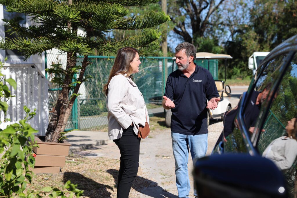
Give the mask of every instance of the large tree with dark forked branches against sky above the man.
[[(212, 18), (225, 0), (168, 0), (168, 14), (175, 24), (173, 32), (182, 40), (194, 44), (197, 48), (220, 52), (218, 39), (212, 37), (211, 28), (219, 26), (218, 17)], [(201, 43), (203, 42), (203, 43)]]

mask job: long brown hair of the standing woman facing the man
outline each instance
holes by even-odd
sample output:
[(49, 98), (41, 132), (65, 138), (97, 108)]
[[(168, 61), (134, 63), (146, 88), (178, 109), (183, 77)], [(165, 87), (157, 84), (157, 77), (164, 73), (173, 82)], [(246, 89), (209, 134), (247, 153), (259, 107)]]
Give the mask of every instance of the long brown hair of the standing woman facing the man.
[(110, 71), (110, 74), (108, 77), (108, 81), (104, 85), (104, 88), (103, 88), (105, 95), (108, 94), (108, 85), (110, 83), (111, 78), (114, 77), (115, 75), (127, 74), (127, 77), (132, 78), (133, 69), (132, 69), (130, 63), (135, 58), (136, 53), (138, 53), (138, 51), (133, 47), (123, 47), (123, 48), (119, 49), (119, 51), (116, 55), (114, 64), (111, 68), (111, 71)]

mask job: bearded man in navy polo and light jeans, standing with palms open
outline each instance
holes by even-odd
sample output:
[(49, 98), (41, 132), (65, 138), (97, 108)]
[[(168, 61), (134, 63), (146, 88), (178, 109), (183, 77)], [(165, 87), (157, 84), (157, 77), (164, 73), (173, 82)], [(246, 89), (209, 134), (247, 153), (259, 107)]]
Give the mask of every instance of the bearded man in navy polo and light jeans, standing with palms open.
[[(172, 111), (170, 127), (176, 186), (178, 197), (186, 198), (190, 192), (187, 167), (189, 149), (193, 164), (197, 158), (205, 156), (207, 109), (217, 108), (220, 98), (210, 72), (194, 63), (194, 45), (183, 42), (177, 45), (175, 51), (178, 70), (167, 79), (162, 105)], [(195, 189), (194, 196), (198, 197)]]

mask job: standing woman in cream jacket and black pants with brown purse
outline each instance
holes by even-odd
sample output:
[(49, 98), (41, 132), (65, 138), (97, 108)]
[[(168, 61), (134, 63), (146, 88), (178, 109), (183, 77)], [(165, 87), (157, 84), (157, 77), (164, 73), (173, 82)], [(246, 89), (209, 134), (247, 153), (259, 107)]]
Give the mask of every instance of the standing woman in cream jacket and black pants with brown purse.
[(107, 96), (108, 136), (121, 153), (117, 198), (129, 197), (139, 166), (138, 127), (145, 125), (146, 118), (149, 123), (143, 96), (132, 80), (140, 64), (136, 49), (121, 48), (103, 89)]

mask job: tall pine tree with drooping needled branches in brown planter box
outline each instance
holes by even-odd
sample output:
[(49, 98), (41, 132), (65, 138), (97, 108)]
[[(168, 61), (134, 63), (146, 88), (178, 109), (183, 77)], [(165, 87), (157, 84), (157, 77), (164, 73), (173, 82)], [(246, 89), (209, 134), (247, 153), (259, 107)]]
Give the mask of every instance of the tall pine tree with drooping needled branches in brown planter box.
[[(25, 13), (34, 21), (29, 27), (19, 25), (21, 18), (5, 20), (7, 31), (15, 33), (16, 39), (5, 38), (0, 41), (1, 49), (17, 49), (25, 59), (33, 54), (56, 48), (67, 53), (66, 69), (53, 65), (48, 69), (55, 74), (52, 82), (60, 85), (62, 91), (56, 103), (55, 112), (50, 119), (46, 141), (57, 142), (64, 131), (67, 120), (81, 83), (86, 67), (90, 64), (88, 54), (97, 50), (105, 55), (115, 54), (121, 47), (138, 48), (139, 54), (146, 56), (159, 47), (161, 33), (152, 27), (170, 20), (164, 12), (149, 12), (145, 15), (127, 17), (129, 7), (145, 6), (158, 0), (0, 0), (8, 12)], [(85, 35), (78, 35), (83, 28)], [(109, 40), (106, 33), (115, 29), (141, 29), (142, 34), (122, 40)], [(81, 66), (77, 66), (77, 55), (83, 56)], [(74, 79), (74, 74), (78, 77)], [(69, 91), (73, 89), (72, 96)]]

